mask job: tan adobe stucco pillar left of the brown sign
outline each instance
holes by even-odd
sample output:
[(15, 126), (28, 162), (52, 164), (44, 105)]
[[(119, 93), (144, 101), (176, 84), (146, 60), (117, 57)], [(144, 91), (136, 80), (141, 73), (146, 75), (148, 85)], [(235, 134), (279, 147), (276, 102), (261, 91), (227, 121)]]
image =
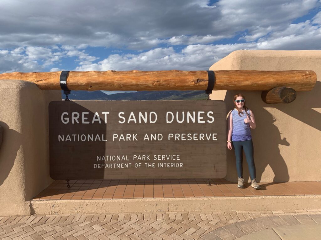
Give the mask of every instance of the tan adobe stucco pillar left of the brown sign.
[(60, 91), (1, 80), (0, 215), (30, 215), (30, 200), (46, 188), (49, 177), (48, 104)]

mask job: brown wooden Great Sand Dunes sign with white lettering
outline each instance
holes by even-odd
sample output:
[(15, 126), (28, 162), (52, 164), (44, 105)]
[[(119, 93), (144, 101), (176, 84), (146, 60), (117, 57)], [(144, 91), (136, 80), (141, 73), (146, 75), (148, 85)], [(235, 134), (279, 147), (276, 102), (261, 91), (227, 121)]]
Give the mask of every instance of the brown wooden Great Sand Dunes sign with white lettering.
[(53, 179), (223, 178), (223, 101), (55, 101)]

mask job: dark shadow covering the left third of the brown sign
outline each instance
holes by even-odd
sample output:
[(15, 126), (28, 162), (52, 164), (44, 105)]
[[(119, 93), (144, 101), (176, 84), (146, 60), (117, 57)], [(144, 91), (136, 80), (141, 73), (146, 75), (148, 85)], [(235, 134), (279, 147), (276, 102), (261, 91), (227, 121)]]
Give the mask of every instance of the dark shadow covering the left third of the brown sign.
[[(58, 105), (57, 105), (58, 104)], [(56, 113), (59, 109), (59, 113)], [(64, 124), (61, 113), (64, 115)], [(77, 121), (72, 122), (72, 113), (80, 113)], [(82, 124), (82, 113), (86, 113), (86, 122)], [(106, 134), (104, 119), (97, 119), (95, 113), (73, 101), (51, 102), (49, 105), (50, 138), (50, 176), (55, 180), (105, 179), (104, 169), (94, 169), (97, 155), (106, 155)], [(59, 135), (59, 136), (58, 136)], [(104, 136), (102, 136), (104, 135)], [(60, 138), (59, 138), (60, 137)], [(58, 139), (60, 141), (58, 141)]]

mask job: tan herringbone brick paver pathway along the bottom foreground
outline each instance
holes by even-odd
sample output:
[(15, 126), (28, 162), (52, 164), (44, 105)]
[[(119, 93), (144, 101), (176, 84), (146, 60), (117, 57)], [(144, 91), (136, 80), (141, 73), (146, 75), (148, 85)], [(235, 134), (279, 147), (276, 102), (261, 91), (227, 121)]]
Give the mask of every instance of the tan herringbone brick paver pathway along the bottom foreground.
[(233, 240), (275, 226), (321, 224), (321, 209), (0, 217), (0, 239)]

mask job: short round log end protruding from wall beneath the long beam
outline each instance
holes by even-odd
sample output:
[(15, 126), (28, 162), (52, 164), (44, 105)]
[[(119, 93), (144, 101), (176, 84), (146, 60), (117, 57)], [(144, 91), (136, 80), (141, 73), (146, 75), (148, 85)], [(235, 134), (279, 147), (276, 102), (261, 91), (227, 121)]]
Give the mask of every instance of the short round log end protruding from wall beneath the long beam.
[(291, 87), (275, 87), (269, 91), (263, 91), (261, 97), (268, 104), (290, 103), (297, 97), (297, 93)]

